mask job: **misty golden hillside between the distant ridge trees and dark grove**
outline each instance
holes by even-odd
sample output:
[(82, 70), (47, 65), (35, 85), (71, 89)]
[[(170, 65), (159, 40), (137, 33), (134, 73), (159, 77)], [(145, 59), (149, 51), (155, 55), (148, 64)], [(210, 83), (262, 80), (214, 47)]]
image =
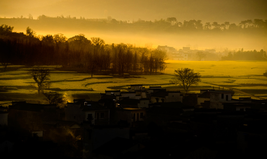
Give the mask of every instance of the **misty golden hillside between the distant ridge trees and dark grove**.
[[(178, 21), (178, 20), (177, 20)], [(266, 49), (266, 26), (256, 27), (251, 24), (237, 23), (230, 29), (229, 26), (205, 29), (206, 23), (201, 22), (202, 28), (190, 27), (190, 21), (182, 21), (189, 27), (172, 25), (166, 20), (144, 21), (134, 23), (121, 20), (84, 19), (83, 17), (47, 17), (39, 16), (39, 20), (28, 18), (0, 18), (0, 24), (14, 26), (15, 32), (24, 32), (30, 26), (37, 35), (63, 33), (71, 38), (80, 33), (87, 38), (100, 37), (106, 43), (131, 43), (136, 46), (151, 45), (157, 47), (173, 46), (181, 48), (191, 46), (193, 49), (215, 48), (216, 50), (239, 49), (258, 50)], [(263, 21), (265, 24), (266, 22)], [(178, 23), (178, 22), (177, 22)], [(213, 23), (210, 22), (212, 25)], [(219, 26), (219, 24), (218, 24)]]

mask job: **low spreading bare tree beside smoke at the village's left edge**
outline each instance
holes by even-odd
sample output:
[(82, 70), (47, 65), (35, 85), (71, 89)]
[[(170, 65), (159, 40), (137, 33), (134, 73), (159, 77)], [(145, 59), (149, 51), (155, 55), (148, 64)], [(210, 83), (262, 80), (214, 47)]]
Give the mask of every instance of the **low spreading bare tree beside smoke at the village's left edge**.
[(63, 97), (62, 94), (57, 92), (53, 91), (43, 92), (43, 95), (45, 95), (46, 97), (44, 98), (44, 100), (49, 102), (49, 104), (56, 104), (63, 106), (63, 104), (67, 101), (67, 99)]

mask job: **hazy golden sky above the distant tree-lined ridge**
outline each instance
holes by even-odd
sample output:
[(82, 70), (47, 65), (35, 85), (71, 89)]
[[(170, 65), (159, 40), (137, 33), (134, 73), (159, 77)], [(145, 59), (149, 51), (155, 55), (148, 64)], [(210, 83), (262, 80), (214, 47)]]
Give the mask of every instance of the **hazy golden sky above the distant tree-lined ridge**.
[(176, 17), (178, 21), (240, 22), (267, 19), (266, 0), (0, 0), (0, 17), (56, 17), (116, 20), (159, 20)]

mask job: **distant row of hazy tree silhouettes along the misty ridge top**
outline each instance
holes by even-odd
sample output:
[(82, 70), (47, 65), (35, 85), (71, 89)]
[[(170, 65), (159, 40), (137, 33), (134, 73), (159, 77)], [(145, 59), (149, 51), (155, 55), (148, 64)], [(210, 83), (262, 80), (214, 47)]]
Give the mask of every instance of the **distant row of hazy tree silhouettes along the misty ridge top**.
[[(20, 19), (23, 16), (20, 17)], [(19, 17), (18, 17), (19, 18)], [(29, 19), (32, 19), (31, 14), (28, 15)], [(142, 19), (138, 19), (136, 21), (122, 21), (116, 20), (111, 16), (103, 19), (85, 19), (84, 17), (76, 18), (71, 17), (70, 15), (64, 17), (63, 15), (57, 17), (49, 17), (46, 15), (40, 15), (37, 17), (37, 20), (41, 21), (53, 21), (53, 19), (63, 20), (63, 21), (75, 21), (75, 22), (84, 22), (84, 21), (96, 21), (102, 23), (103, 26), (106, 27), (115, 27), (122, 25), (123, 27), (137, 27), (137, 26), (147, 26), (149, 29), (160, 29), (160, 30), (260, 30), (260, 29), (267, 29), (267, 19), (248, 19), (248, 20), (241, 20), (240, 23), (230, 23), (224, 22), (219, 24), (218, 22), (202, 22), (202, 20), (184, 20), (183, 22), (177, 21), (176, 17), (168, 17), (166, 19), (154, 20), (154, 21), (145, 21)], [(84, 24), (84, 23), (83, 23)]]

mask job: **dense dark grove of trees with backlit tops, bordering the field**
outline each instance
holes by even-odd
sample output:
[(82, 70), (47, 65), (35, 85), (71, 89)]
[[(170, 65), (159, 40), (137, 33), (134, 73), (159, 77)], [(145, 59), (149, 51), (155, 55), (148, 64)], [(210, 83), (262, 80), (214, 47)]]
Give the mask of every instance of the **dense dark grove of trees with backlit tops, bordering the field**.
[[(12, 32), (12, 30), (11, 30)], [(6, 35), (6, 31), (0, 32)], [(69, 39), (62, 33), (37, 35), (30, 27), (26, 35), (0, 38), (3, 65), (62, 65), (75, 66), (94, 73), (161, 74), (166, 68), (165, 51), (135, 47), (132, 44), (111, 44), (98, 37), (90, 40), (84, 34)]]

